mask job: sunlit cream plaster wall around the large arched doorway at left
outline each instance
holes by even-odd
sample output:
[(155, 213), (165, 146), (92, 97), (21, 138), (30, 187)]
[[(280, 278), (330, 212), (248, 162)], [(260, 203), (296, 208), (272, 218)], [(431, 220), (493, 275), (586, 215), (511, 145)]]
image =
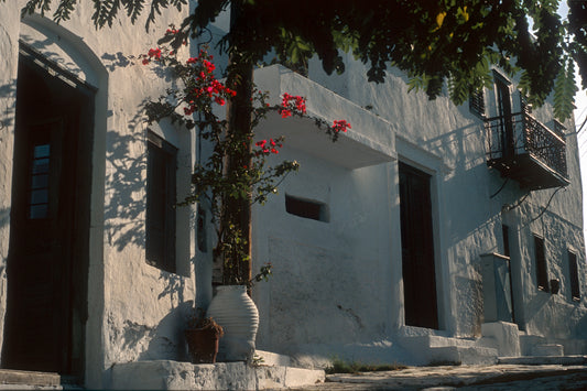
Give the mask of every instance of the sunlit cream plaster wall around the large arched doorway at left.
[[(0, 3), (0, 289), (6, 297), (3, 268), (8, 253), (10, 176), (18, 40), (97, 88), (93, 145), (89, 318), (86, 325), (86, 385), (108, 385), (115, 362), (183, 355), (181, 323), (195, 297), (191, 259), (194, 257), (193, 210), (177, 213), (177, 273), (145, 262), (144, 210), (146, 139), (141, 105), (159, 96), (170, 82), (161, 69), (144, 67), (137, 55), (155, 45), (169, 23), (183, 20), (187, 10), (164, 11), (144, 32), (124, 17), (111, 29), (96, 30), (93, 7), (79, 4), (72, 20), (56, 25), (32, 15), (20, 22), (22, 6)], [(48, 13), (51, 14), (51, 13)], [(195, 156), (194, 140), (171, 127), (153, 127), (178, 148), (178, 188), (187, 191)], [(6, 303), (0, 304), (3, 316)]]

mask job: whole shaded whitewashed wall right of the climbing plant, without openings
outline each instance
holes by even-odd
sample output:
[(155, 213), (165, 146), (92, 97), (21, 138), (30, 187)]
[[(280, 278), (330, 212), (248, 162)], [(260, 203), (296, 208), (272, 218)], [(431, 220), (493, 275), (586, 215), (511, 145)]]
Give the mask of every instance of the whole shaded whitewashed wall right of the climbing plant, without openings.
[[(341, 76), (327, 76), (318, 62), (312, 62), (309, 79), (366, 108), (365, 117), (378, 116), (390, 123), (388, 135), (395, 139), (390, 155), (433, 175), (441, 330), (403, 324), (396, 162), (349, 170), (341, 162), (350, 156), (337, 161), (327, 146), (320, 156), (293, 142), (295, 148), (289, 149), (286, 140), (280, 159), (298, 160), (301, 171), (283, 183), (278, 196), (256, 209), (253, 220), (254, 259), (274, 265), (272, 281), (260, 284), (254, 293), (262, 319), (259, 346), (292, 352), (324, 344), (334, 351), (340, 344), (393, 341), (411, 334), (480, 337), (480, 256), (503, 253), (502, 224), (512, 232), (514, 316), (520, 328), (547, 339), (584, 338), (587, 311), (584, 301), (570, 300), (566, 256), (567, 248), (576, 251), (585, 292), (580, 175), (572, 121), (566, 123), (570, 185), (552, 200), (555, 189), (531, 192), (524, 198), (526, 192), (514, 181), (498, 192), (504, 180), (487, 167), (483, 123), (467, 105), (456, 107), (447, 96), (430, 101), (423, 93), (407, 93), (405, 77), (395, 69), (381, 85), (369, 84), (366, 67), (350, 58), (346, 69)], [(287, 87), (296, 89), (296, 84)], [(298, 88), (293, 94), (312, 93)], [(486, 95), (488, 115), (494, 116), (496, 94), (487, 89)], [(552, 128), (548, 104), (535, 108), (533, 115)], [(344, 113), (340, 118), (348, 120)], [(274, 135), (283, 130), (273, 129)], [(330, 220), (286, 214), (285, 194), (327, 205)], [(550, 279), (561, 280), (556, 295), (537, 291), (532, 233), (546, 239)]]

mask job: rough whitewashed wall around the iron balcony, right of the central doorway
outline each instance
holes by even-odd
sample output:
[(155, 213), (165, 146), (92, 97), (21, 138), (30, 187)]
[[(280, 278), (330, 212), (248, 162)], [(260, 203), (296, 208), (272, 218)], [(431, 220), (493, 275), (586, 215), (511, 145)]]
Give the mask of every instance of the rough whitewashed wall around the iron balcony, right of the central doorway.
[[(360, 88), (366, 84), (365, 67), (356, 62), (352, 63), (346, 78), (348, 97), (358, 105), (373, 105), (373, 111), (396, 124), (398, 134), (412, 140), (417, 146), (427, 152), (442, 158), (443, 164), (449, 167), (449, 172), (441, 180), (439, 192), (443, 193), (444, 216), (439, 230), (445, 232), (442, 251), (447, 252), (448, 268), (450, 270), (450, 289), (455, 297), (450, 301), (453, 305), (453, 317), (458, 319), (455, 328), (457, 335), (470, 335), (471, 329), (476, 330), (475, 322), (471, 319), (471, 291), (466, 285), (477, 285), (478, 273), (476, 263), (478, 257), (483, 251), (502, 252), (501, 235), (499, 233), (501, 216), (500, 209), (503, 205), (515, 205), (523, 197), (524, 193), (514, 182), (507, 185), (504, 191), (494, 198), (490, 195), (503, 183), (497, 173), (490, 172), (485, 164), (486, 142), (482, 123), (468, 112), (466, 105), (455, 107), (447, 101), (446, 97), (439, 97), (435, 101), (427, 101), (423, 94), (407, 94), (406, 85), (402, 75), (390, 73), (390, 77), (383, 85), (370, 85)], [(515, 80), (513, 80), (515, 83)], [(512, 95), (514, 89), (512, 88)], [(345, 90), (345, 88), (339, 88)], [(489, 116), (496, 115), (494, 93), (486, 90)], [(515, 96), (512, 105), (515, 110)], [(546, 104), (543, 108), (535, 109), (533, 115), (547, 126), (553, 126), (552, 106)], [(520, 227), (520, 241), (518, 247), (524, 252), (521, 257), (524, 265), (523, 289), (519, 292), (518, 301), (523, 301), (523, 312), (528, 318), (540, 316), (541, 305), (533, 300), (537, 292), (535, 286), (534, 257), (529, 253), (533, 249), (531, 232), (542, 233), (547, 242), (547, 262), (551, 278), (558, 278), (563, 285), (559, 295), (546, 295), (548, 301), (557, 302), (553, 306), (553, 312), (542, 316), (539, 322), (532, 323), (531, 333), (544, 335), (556, 334), (556, 329), (577, 327), (568, 326), (565, 321), (568, 307), (574, 308), (578, 317), (585, 317), (585, 304), (570, 302), (566, 249), (575, 249), (578, 257), (584, 257), (584, 243), (580, 239), (580, 217), (581, 192), (580, 174), (578, 166), (578, 149), (576, 135), (573, 133), (572, 121), (567, 126), (567, 164), (570, 185), (558, 192), (548, 205), (547, 211), (536, 220), (540, 213), (548, 204), (548, 199), (555, 189), (532, 192), (525, 203), (521, 204), (518, 214), (517, 227)], [(398, 149), (400, 159), (402, 151)], [(513, 221), (510, 221), (510, 224)], [(443, 247), (443, 240), (441, 240)], [(581, 262), (579, 275), (585, 275), (585, 260)], [(566, 280), (566, 281), (563, 281)], [(581, 279), (581, 291), (585, 289), (585, 279)], [(463, 286), (465, 284), (465, 286)], [(477, 290), (474, 289), (472, 292)], [(565, 295), (563, 297), (562, 295)], [(515, 300), (515, 297), (514, 297)], [(580, 314), (580, 315), (579, 315)], [(471, 322), (472, 321), (472, 322)], [(566, 330), (567, 333), (570, 330)], [(579, 329), (570, 332), (568, 335), (577, 335)]]

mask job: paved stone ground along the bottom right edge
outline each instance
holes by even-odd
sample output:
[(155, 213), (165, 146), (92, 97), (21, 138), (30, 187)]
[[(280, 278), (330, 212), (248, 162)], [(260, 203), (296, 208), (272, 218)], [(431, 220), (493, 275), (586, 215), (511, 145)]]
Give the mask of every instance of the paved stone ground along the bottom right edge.
[(446, 366), (328, 374), (297, 390), (587, 390), (587, 366)]

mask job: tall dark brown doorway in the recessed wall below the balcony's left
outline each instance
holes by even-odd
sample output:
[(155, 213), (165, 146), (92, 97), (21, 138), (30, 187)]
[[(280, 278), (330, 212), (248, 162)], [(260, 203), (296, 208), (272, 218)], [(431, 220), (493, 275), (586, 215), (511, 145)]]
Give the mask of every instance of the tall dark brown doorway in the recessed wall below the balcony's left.
[(438, 328), (431, 176), (399, 163), (405, 324)]

